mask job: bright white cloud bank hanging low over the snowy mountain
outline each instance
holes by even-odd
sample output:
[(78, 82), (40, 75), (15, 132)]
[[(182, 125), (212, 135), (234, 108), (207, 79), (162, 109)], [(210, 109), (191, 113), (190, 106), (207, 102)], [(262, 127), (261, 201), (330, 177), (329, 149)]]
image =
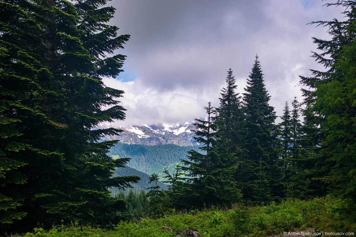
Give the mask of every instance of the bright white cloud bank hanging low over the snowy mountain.
[[(160, 92), (153, 87), (146, 87), (140, 80), (122, 82), (106, 78), (103, 81), (106, 86), (125, 91), (124, 97), (119, 100), (121, 106), (127, 109), (126, 119), (115, 122), (117, 126), (191, 123), (195, 118), (205, 116), (203, 106), (206, 106), (204, 103), (208, 99), (207, 95), (211, 95), (205, 91), (185, 88)], [(214, 96), (217, 98), (217, 93)]]

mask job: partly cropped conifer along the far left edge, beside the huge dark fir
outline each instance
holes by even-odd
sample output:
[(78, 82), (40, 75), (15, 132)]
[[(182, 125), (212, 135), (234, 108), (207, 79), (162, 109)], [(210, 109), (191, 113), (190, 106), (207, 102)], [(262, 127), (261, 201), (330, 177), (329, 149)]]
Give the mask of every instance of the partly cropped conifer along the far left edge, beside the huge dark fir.
[[(31, 4), (0, 3), (0, 227), (9, 226), (27, 214), (20, 210), (25, 196), (21, 192), (28, 177), (21, 171), (28, 165), (26, 153), (41, 155), (23, 139), (19, 125), (41, 119), (38, 87), (33, 82), (41, 70), (41, 63), (33, 58), (39, 31), (25, 9)], [(23, 34), (22, 32), (27, 32)], [(31, 119), (32, 118), (32, 119)]]

